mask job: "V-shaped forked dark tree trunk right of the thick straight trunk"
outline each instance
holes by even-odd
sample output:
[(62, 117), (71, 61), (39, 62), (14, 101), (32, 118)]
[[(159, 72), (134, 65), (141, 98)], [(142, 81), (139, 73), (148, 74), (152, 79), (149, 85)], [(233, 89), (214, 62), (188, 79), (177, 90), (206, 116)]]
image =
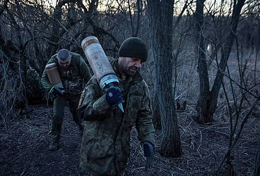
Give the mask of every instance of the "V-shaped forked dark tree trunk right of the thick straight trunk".
[[(229, 25), (230, 30), (227, 38), (223, 40), (224, 44), (222, 46), (221, 60), (218, 65), (216, 78), (214, 80), (214, 84), (211, 91), (209, 91), (209, 78), (208, 78), (207, 64), (206, 64), (206, 57), (205, 57), (205, 47), (203, 41), (201, 41), (202, 39), (199, 40), (200, 42), (198, 47), (199, 50), (198, 51), (199, 52), (198, 72), (200, 76), (200, 97), (197, 102), (197, 108), (196, 108), (198, 114), (198, 123), (205, 124), (205, 123), (213, 122), (213, 114), (215, 113), (217, 107), (218, 93), (220, 90), (221, 81), (223, 80), (223, 76), (224, 76), (223, 72), (225, 71), (229, 54), (231, 52), (237, 25), (239, 22), (240, 12), (244, 5), (244, 2), (245, 0), (238, 0), (237, 3), (234, 4), (233, 6), (233, 13)], [(195, 14), (195, 19), (197, 19), (196, 22), (198, 23), (197, 31), (199, 31), (200, 27), (202, 30), (203, 3), (204, 3), (203, 0), (197, 1), (197, 9), (196, 9), (197, 13)], [(202, 38), (202, 36), (200, 36), (200, 38)]]

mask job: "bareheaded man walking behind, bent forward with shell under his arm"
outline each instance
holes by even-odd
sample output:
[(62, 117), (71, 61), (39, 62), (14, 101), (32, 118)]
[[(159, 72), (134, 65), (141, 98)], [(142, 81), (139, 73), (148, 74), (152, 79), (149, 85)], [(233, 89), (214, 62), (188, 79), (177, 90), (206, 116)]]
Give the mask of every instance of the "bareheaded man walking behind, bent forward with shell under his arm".
[(82, 119), (77, 116), (76, 108), (82, 89), (85, 83), (90, 80), (91, 74), (84, 59), (79, 54), (69, 52), (66, 49), (61, 49), (57, 54), (53, 55), (47, 62), (47, 64), (49, 63), (56, 63), (58, 66), (65, 91), (64, 94), (61, 95), (60, 90), (57, 90), (55, 86), (50, 84), (46, 70), (44, 70), (41, 82), (45, 89), (51, 90), (50, 94), (54, 97), (51, 144), (49, 145), (49, 150), (55, 151), (59, 145), (63, 111), (67, 101), (72, 119), (82, 131)]

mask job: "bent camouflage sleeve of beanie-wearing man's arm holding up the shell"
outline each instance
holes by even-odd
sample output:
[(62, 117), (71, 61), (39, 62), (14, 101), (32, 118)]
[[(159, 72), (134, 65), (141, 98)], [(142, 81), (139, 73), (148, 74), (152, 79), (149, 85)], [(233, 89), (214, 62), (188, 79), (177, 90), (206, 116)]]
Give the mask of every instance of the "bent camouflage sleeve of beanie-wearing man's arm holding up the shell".
[(77, 115), (84, 121), (98, 121), (109, 117), (113, 108), (106, 100), (95, 76), (85, 86), (83, 102), (77, 108)]

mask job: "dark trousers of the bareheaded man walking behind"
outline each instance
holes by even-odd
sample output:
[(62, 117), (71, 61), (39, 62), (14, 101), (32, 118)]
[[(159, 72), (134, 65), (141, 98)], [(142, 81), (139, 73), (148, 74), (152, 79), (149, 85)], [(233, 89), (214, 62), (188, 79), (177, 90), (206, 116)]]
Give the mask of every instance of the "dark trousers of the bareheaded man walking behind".
[(76, 109), (79, 102), (79, 96), (67, 97), (57, 96), (53, 102), (53, 117), (52, 117), (52, 129), (51, 129), (51, 141), (59, 143), (61, 127), (64, 116), (64, 107), (66, 102), (69, 103), (69, 110), (72, 115), (72, 120), (78, 125), (79, 129), (82, 130), (82, 119), (77, 116)]

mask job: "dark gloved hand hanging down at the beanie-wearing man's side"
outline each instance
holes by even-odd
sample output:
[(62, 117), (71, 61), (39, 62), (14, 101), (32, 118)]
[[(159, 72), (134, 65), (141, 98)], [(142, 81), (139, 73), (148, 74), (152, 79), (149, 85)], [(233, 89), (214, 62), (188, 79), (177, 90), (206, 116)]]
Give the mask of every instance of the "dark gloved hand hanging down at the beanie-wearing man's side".
[(143, 153), (146, 158), (145, 161), (145, 170), (151, 168), (153, 165), (153, 157), (154, 157), (154, 145), (150, 142), (143, 143)]

